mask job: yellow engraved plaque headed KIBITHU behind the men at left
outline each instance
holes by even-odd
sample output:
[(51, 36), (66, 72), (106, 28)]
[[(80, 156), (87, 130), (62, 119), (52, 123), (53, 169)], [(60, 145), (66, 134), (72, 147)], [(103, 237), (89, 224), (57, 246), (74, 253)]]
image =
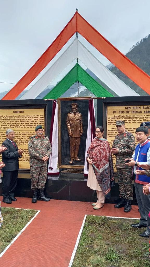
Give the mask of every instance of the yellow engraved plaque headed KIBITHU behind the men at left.
[(19, 169), (29, 170), (29, 137), (35, 135), (37, 125), (42, 124), (45, 127), (45, 109), (0, 109), (0, 121), (0, 144), (6, 139), (6, 130), (13, 129), (15, 132), (14, 141), (18, 148), (24, 149), (24, 153), (19, 159)]

